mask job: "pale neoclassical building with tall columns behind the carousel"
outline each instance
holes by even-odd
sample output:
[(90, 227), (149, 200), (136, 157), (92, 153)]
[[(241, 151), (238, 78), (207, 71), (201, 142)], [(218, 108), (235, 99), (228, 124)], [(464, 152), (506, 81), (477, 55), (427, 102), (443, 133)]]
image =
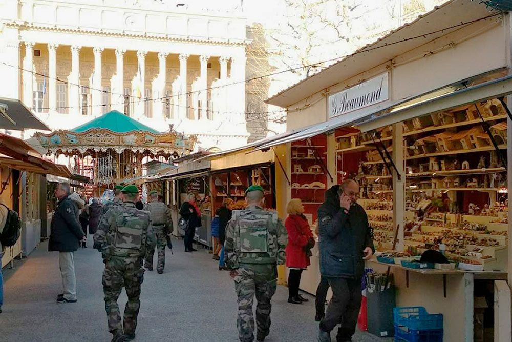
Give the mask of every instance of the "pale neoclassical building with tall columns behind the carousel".
[(245, 144), (246, 19), (182, 5), (2, 0), (0, 97), (51, 129), (116, 109), (205, 149)]

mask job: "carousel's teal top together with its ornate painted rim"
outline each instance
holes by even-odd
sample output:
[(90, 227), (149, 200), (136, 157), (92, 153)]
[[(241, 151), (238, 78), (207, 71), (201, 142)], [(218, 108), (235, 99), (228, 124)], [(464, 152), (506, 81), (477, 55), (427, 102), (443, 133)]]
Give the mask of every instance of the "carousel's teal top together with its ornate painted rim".
[(115, 110), (71, 130), (34, 136), (48, 152), (67, 155), (107, 150), (183, 155), (196, 143), (195, 136), (183, 137), (172, 129), (160, 133)]

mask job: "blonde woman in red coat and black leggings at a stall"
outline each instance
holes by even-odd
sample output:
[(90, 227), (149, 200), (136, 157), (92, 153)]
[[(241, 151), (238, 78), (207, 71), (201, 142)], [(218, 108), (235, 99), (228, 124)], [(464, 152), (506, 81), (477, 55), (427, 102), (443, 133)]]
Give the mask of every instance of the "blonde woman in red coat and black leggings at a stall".
[(298, 294), (302, 271), (310, 265), (310, 249), (314, 246), (314, 238), (309, 223), (304, 216), (304, 206), (300, 199), (292, 199), (286, 208), (288, 217), (285, 227), (288, 232), (288, 246), (286, 246), (286, 267), (288, 275), (288, 303), (302, 304), (308, 299)]

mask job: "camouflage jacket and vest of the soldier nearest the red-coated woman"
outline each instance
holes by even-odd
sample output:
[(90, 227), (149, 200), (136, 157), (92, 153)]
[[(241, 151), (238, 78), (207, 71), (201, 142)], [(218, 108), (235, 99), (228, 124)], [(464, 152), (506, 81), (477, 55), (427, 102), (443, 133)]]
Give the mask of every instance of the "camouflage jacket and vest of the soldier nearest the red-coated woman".
[(279, 264), (286, 261), (288, 234), (275, 211), (258, 206), (234, 210), (226, 227), (226, 266), (239, 264)]

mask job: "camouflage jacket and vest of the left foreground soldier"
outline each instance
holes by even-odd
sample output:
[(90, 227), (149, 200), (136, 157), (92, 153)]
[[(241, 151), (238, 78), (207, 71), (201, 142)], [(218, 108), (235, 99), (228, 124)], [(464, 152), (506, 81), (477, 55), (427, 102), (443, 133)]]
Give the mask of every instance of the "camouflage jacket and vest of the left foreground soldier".
[(150, 214), (136, 209), (132, 202), (111, 206), (101, 217), (94, 234), (94, 247), (102, 252), (103, 258), (137, 258), (144, 256), (145, 251), (155, 248), (155, 245)]

